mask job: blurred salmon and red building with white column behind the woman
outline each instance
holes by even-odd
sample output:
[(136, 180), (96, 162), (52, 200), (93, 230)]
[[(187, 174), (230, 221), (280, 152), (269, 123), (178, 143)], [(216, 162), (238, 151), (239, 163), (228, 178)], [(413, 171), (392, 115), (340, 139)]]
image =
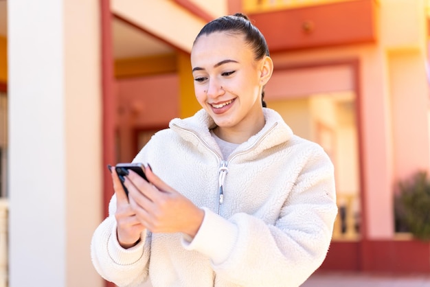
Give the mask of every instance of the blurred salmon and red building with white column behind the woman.
[(106, 165), (198, 111), (192, 43), (234, 12), (269, 44), (267, 105), (335, 164), (339, 216), (317, 272), (429, 273), (430, 242), (394, 224), (398, 181), (430, 172), (428, 4), (0, 0), (0, 286), (111, 286), (89, 257)]

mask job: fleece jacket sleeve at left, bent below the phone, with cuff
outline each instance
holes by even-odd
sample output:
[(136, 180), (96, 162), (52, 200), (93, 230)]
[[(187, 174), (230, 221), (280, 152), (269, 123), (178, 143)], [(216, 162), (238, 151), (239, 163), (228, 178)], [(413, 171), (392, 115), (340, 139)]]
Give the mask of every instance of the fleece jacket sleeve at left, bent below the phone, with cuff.
[(142, 232), (141, 240), (130, 249), (124, 249), (117, 240), (115, 219), (116, 197), (109, 203), (107, 217), (93, 234), (91, 260), (95, 270), (106, 280), (120, 287), (139, 286), (148, 277), (150, 234)]

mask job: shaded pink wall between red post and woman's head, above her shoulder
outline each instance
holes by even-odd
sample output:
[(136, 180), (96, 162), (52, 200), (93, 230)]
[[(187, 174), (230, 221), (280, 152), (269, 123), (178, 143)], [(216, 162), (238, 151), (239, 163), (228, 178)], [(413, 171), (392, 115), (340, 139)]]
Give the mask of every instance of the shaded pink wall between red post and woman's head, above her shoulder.
[(179, 76), (126, 78), (115, 83), (117, 159), (128, 162), (138, 152), (137, 133), (167, 128), (179, 117)]

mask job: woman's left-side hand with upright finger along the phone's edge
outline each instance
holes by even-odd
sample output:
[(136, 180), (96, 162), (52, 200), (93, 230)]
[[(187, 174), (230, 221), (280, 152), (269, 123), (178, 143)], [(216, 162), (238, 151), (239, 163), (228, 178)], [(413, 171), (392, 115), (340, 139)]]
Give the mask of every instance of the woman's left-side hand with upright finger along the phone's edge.
[(140, 239), (140, 233), (144, 231), (145, 226), (137, 219), (136, 213), (128, 203), (128, 198), (120, 179), (118, 178), (115, 168), (111, 168), (113, 189), (117, 198), (117, 210), (115, 218), (117, 220), (117, 239), (120, 245), (127, 249), (135, 246)]

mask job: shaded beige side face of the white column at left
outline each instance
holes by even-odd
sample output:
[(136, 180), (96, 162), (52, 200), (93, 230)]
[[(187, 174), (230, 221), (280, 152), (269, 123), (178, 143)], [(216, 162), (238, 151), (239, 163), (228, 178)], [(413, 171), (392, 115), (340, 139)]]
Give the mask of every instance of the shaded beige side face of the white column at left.
[[(66, 285), (102, 286), (89, 242), (102, 216), (100, 1), (63, 0)], [(13, 286), (12, 286), (13, 287)]]

